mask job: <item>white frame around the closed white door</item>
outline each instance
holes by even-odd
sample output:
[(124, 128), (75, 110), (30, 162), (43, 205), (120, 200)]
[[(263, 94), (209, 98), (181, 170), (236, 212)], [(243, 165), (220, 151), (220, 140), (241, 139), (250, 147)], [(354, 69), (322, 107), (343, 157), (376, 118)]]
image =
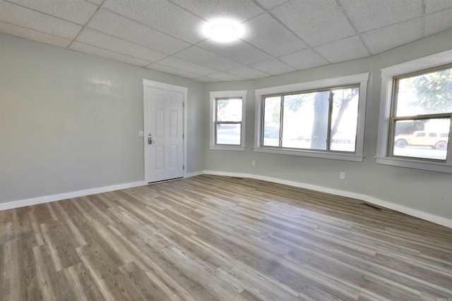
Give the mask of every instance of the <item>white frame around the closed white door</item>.
[(186, 164), (186, 149), (187, 149), (187, 135), (186, 135), (186, 129), (187, 129), (187, 107), (188, 107), (188, 98), (187, 98), (187, 94), (189, 92), (189, 88), (188, 87), (182, 87), (182, 86), (177, 86), (177, 85), (170, 85), (170, 84), (166, 84), (165, 82), (156, 82), (154, 80), (146, 80), (143, 79), (143, 131), (144, 131), (144, 136), (143, 136), (143, 164), (144, 164), (144, 174), (143, 174), (143, 178), (145, 180), (145, 183), (148, 183), (148, 179), (146, 178), (146, 164), (148, 162), (148, 159), (146, 158), (146, 144), (148, 142), (148, 135), (146, 133), (146, 121), (148, 120), (149, 116), (148, 116), (148, 87), (152, 87), (155, 89), (160, 89), (160, 90), (167, 90), (167, 91), (171, 91), (171, 92), (179, 92), (183, 94), (183, 116), (182, 118), (183, 120), (183, 134), (184, 134), (184, 147), (183, 147), (183, 151), (184, 151), (184, 178), (186, 177), (186, 170), (187, 170), (187, 164)]

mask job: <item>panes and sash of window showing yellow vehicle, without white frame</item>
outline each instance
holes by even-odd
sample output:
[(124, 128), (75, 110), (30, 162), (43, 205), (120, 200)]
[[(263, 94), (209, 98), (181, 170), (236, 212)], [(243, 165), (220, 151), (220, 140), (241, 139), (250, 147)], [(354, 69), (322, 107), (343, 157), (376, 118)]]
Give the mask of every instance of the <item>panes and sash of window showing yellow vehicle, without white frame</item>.
[(393, 87), (388, 156), (446, 162), (452, 66), (395, 77)]

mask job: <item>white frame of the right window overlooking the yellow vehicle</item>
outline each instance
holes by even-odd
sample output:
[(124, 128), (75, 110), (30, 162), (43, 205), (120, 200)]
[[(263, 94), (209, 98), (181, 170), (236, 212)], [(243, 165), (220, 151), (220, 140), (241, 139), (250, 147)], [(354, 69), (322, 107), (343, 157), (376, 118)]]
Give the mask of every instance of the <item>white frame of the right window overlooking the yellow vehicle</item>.
[[(379, 135), (375, 157), (377, 164), (416, 168), (427, 171), (439, 171), (442, 173), (452, 173), (452, 143), (448, 143), (448, 158), (443, 162), (422, 161), (419, 159), (405, 159), (388, 156), (388, 140), (390, 137), (389, 126), (391, 121), (391, 107), (393, 102), (394, 78), (400, 75), (415, 73), (430, 68), (444, 66), (450, 63), (452, 63), (452, 50), (381, 69)], [(452, 133), (452, 123), (450, 133)]]

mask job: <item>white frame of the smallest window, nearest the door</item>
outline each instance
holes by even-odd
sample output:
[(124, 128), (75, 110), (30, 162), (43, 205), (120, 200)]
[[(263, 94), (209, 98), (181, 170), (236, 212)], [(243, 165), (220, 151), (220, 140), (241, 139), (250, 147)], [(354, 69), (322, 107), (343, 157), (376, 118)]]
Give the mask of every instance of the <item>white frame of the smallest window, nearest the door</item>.
[[(241, 98), (242, 99), (242, 131), (240, 133), (240, 145), (215, 145), (215, 99), (218, 98)], [(245, 150), (246, 123), (246, 90), (237, 91), (212, 91), (210, 92), (210, 149), (213, 150)]]

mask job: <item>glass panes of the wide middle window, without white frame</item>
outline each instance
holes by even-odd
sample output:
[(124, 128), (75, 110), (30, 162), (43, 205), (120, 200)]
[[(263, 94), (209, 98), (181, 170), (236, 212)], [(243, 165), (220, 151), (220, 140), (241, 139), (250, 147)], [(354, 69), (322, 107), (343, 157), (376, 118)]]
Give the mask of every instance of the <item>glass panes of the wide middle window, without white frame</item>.
[(263, 97), (263, 147), (356, 152), (359, 85)]

